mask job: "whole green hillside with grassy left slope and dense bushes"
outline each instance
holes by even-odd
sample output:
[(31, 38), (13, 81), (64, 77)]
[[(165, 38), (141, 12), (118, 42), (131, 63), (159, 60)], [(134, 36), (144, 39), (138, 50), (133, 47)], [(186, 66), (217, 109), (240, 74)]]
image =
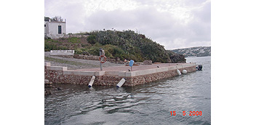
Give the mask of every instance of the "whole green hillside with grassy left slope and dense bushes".
[(87, 35), (86, 39), (75, 37), (55, 40), (45, 39), (44, 51), (52, 49), (75, 49), (76, 54), (99, 55), (99, 49), (101, 47), (105, 50), (106, 57), (119, 60), (174, 62), (172, 61), (174, 57), (176, 58), (175, 62), (184, 62), (183, 60), (185, 60), (183, 56), (166, 51), (164, 46), (146, 38), (143, 34), (135, 33), (135, 31), (104, 30), (80, 34)]

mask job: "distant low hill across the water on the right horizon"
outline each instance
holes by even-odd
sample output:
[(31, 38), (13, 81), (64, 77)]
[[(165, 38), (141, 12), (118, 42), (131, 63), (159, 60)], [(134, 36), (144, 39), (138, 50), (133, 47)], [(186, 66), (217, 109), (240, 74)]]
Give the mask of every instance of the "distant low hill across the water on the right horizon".
[(172, 49), (175, 52), (185, 57), (206, 57), (211, 56), (211, 47), (190, 47), (183, 49)]

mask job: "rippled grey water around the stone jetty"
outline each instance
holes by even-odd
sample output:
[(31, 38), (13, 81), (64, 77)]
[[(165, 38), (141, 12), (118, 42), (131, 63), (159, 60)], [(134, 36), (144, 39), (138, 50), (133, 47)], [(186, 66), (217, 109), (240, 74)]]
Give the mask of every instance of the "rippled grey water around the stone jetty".
[(211, 57), (186, 59), (203, 70), (119, 89), (56, 84), (61, 90), (44, 100), (44, 124), (211, 124)]

